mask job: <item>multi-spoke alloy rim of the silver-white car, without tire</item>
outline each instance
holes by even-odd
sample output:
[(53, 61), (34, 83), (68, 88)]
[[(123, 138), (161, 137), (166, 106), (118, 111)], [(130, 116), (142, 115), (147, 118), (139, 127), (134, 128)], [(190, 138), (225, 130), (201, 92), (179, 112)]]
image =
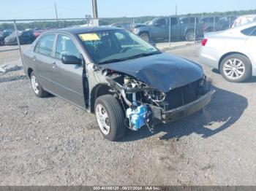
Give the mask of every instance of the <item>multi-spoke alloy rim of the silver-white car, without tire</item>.
[(244, 63), (238, 58), (230, 58), (223, 65), (223, 73), (228, 79), (240, 79), (244, 72)]

